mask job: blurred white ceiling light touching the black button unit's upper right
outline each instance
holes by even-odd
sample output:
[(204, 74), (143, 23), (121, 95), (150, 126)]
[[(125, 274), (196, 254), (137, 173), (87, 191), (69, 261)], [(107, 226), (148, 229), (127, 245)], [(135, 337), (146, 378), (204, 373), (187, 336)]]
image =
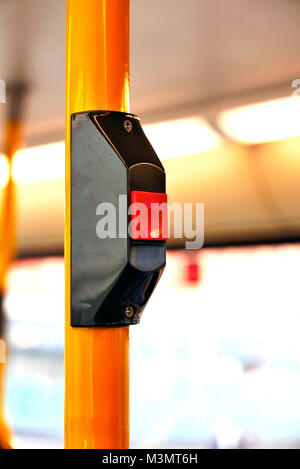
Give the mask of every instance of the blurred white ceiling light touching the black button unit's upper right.
[(201, 153), (220, 141), (209, 124), (198, 117), (146, 125), (144, 131), (162, 160)]

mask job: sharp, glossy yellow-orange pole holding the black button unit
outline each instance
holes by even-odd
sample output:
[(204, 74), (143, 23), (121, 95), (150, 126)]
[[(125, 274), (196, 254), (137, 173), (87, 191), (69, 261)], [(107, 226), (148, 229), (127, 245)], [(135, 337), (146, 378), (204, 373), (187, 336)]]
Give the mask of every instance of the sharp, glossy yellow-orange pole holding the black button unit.
[(128, 448), (129, 330), (70, 326), (70, 115), (129, 111), (129, 0), (67, 0), (65, 447)]

